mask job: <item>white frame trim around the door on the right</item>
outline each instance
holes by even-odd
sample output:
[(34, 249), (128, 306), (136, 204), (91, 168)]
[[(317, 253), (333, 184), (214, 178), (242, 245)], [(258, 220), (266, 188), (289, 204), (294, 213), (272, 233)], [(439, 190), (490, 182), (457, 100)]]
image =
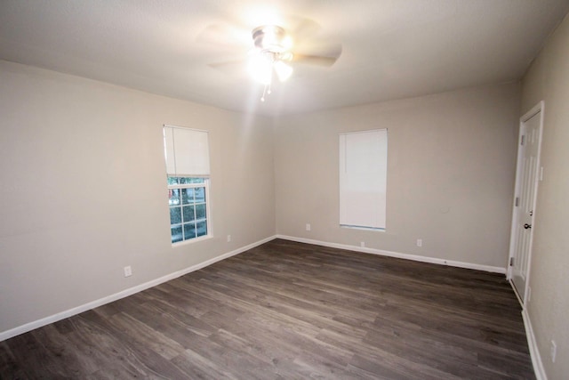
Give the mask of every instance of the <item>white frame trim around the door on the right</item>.
[[(533, 230), (531, 232), (530, 235), (530, 241), (529, 241), (529, 248), (528, 248), (528, 253), (527, 253), (527, 271), (525, 273), (526, 276), (526, 280), (525, 280), (525, 288), (523, 289), (523, 294), (518, 294), (518, 290), (517, 288), (514, 286), (513, 282), (512, 282), (512, 265), (510, 265), (512, 258), (516, 257), (516, 238), (517, 238), (517, 214), (518, 214), (518, 209), (519, 207), (516, 206), (516, 199), (519, 197), (519, 192), (521, 187), (523, 186), (522, 182), (522, 154), (523, 154), (523, 150), (521, 149), (521, 143), (522, 143), (522, 132), (523, 132), (523, 128), (525, 123), (531, 119), (532, 117), (534, 117), (535, 115), (537, 115), (538, 113), (540, 113), (540, 131), (539, 131), (539, 145), (538, 145), (538, 150), (537, 150), (537, 170), (538, 170), (538, 176), (536, 178), (535, 183), (533, 184), (533, 186), (535, 186), (535, 191), (533, 192), (533, 219), (535, 218), (535, 208), (536, 208), (536, 203), (537, 203), (537, 193), (539, 190), (539, 186), (538, 183), (542, 181), (541, 175), (543, 174), (543, 167), (541, 167), (541, 139), (542, 139), (542, 135), (543, 135), (543, 117), (544, 117), (544, 110), (545, 110), (545, 102), (544, 101), (540, 101), (538, 104), (536, 104), (532, 109), (530, 109), (529, 111), (527, 111), (524, 116), (520, 117), (520, 121), (519, 121), (519, 128), (518, 128), (518, 136), (517, 136), (517, 161), (516, 161), (516, 187), (514, 190), (514, 199), (512, 201), (512, 225), (511, 225), (511, 230), (510, 230), (510, 235), (509, 235), (509, 257), (508, 257), (508, 271), (507, 271), (507, 279), (509, 280), (512, 288), (514, 289), (514, 293), (516, 293), (517, 295), (517, 299), (518, 301), (521, 303), (522, 307), (525, 307), (525, 303), (527, 301), (527, 297), (528, 297), (528, 289), (530, 288), (530, 272), (532, 271), (532, 252), (533, 252)], [(532, 222), (533, 224), (533, 222)]]

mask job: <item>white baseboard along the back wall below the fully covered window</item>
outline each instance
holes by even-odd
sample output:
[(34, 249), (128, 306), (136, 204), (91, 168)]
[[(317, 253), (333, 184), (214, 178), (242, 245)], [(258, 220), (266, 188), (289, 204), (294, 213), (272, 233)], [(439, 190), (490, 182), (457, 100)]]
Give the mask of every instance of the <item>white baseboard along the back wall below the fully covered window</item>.
[(458, 268), (474, 269), (477, 271), (490, 271), (493, 273), (501, 273), (504, 275), (506, 274), (506, 268), (495, 267), (495, 266), (490, 266), (490, 265), (481, 265), (481, 264), (475, 264), (475, 263), (462, 263), (462, 262), (456, 262), (453, 260), (439, 259), (437, 257), (401, 254), (398, 252), (384, 251), (384, 250), (375, 249), (375, 248), (349, 246), (349, 245), (338, 244), (338, 243), (328, 243), (328, 242), (320, 241), (320, 240), (296, 238), (296, 237), (286, 236), (286, 235), (276, 235), (276, 238), (277, 239), (297, 241), (299, 243), (315, 244), (317, 246), (323, 246), (323, 247), (347, 249), (349, 251), (363, 252), (365, 254), (397, 257), (398, 259), (413, 260), (415, 262), (435, 263), (435, 264), (440, 264), (440, 265), (449, 265), (449, 266), (458, 267)]

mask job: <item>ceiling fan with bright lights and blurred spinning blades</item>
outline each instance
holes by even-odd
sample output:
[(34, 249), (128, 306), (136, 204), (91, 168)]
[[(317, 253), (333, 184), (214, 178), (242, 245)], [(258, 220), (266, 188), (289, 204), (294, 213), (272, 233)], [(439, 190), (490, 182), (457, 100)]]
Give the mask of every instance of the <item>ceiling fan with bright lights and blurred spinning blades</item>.
[(330, 67), (340, 58), (341, 44), (308, 43), (302, 38), (302, 34), (313, 34), (316, 28), (317, 23), (308, 19), (303, 19), (292, 32), (276, 24), (261, 25), (252, 29), (247, 58), (210, 63), (209, 66), (220, 68), (246, 63), (251, 76), (265, 86), (260, 98), (265, 101), (265, 95), (271, 92), (273, 78), (284, 82), (293, 74), (293, 65)]

